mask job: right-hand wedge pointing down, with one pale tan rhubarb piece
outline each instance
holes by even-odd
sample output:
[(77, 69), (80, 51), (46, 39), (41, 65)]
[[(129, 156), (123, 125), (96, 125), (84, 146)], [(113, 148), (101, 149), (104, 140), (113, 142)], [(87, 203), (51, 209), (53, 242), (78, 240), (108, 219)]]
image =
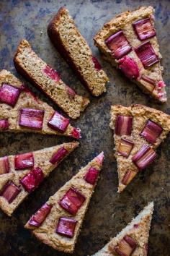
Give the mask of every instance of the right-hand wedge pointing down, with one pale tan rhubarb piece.
[(114, 130), (118, 192), (156, 158), (156, 148), (170, 131), (170, 116), (143, 105), (111, 107), (110, 128)]

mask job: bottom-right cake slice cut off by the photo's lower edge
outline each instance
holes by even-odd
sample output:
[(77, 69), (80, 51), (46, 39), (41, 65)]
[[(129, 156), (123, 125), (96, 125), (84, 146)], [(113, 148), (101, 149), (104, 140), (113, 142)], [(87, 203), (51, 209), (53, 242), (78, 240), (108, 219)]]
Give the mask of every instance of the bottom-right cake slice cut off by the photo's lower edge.
[(147, 256), (148, 237), (153, 214), (150, 202), (122, 231), (95, 256)]

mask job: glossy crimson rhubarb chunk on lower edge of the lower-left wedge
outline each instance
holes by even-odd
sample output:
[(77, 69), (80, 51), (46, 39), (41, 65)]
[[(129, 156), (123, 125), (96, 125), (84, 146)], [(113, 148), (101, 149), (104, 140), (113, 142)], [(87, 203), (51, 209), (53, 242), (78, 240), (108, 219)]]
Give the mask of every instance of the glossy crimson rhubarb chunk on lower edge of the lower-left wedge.
[(39, 186), (43, 179), (44, 174), (42, 172), (42, 169), (37, 167), (35, 169), (32, 169), (32, 171), (30, 171), (22, 179), (20, 179), (20, 183), (22, 184), (24, 189), (30, 193)]

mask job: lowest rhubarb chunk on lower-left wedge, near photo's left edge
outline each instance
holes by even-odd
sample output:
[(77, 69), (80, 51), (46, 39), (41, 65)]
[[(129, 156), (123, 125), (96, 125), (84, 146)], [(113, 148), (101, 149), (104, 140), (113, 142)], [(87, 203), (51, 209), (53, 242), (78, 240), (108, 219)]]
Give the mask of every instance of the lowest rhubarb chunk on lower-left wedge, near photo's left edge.
[(1, 189), (0, 196), (4, 197), (9, 203), (11, 203), (17, 197), (19, 192), (21, 192), (19, 187), (17, 187), (13, 182), (7, 182)]

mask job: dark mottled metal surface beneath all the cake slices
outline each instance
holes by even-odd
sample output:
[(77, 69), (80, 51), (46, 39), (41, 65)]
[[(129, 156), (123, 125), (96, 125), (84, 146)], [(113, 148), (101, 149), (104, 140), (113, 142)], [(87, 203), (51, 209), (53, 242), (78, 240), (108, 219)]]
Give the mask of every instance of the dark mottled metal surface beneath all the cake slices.
[[(104, 150), (105, 161), (101, 179), (91, 199), (89, 210), (79, 235), (73, 255), (91, 255), (102, 248), (109, 237), (115, 236), (148, 202), (154, 200), (155, 210), (149, 238), (149, 256), (169, 256), (170, 244), (170, 157), (169, 142), (166, 140), (158, 148), (158, 158), (151, 168), (142, 171), (122, 194), (117, 194), (117, 168), (113, 158), (114, 142), (109, 129), (109, 109), (114, 103), (128, 106), (131, 103), (143, 103), (170, 114), (170, 102), (158, 105), (140, 90), (122, 77), (120, 73), (104, 62), (97, 48), (93, 46), (93, 36), (100, 27), (115, 14), (141, 5), (151, 4), (156, 8), (156, 30), (161, 53), (164, 57), (164, 80), (169, 84), (169, 8), (170, 1), (0, 1), (0, 68), (17, 72), (13, 65), (13, 56), (19, 40), (30, 41), (37, 54), (61, 73), (62, 79), (78, 93), (89, 96), (83, 85), (71, 71), (66, 62), (55, 51), (46, 32), (48, 22), (62, 6), (66, 6), (79, 30), (92, 48), (94, 55), (107, 72), (110, 83), (107, 93), (100, 98), (91, 97), (91, 104), (84, 114), (72, 124), (82, 130), (80, 147), (66, 161), (50, 174), (35, 192), (14, 212), (12, 218), (0, 212), (0, 255), (64, 255), (39, 242), (30, 231), (24, 229), (24, 223), (40, 208), (50, 195), (53, 195), (81, 166), (94, 155)], [(17, 74), (17, 77), (20, 77)], [(22, 78), (22, 77), (20, 77)], [(25, 82), (25, 80), (22, 78)], [(33, 88), (32, 85), (29, 85)], [(35, 93), (55, 109), (57, 107), (45, 95), (33, 88)], [(169, 88), (167, 88), (169, 96)], [(1, 134), (1, 155), (16, 154), (29, 150), (38, 150), (68, 138), (42, 136), (34, 134)]]

